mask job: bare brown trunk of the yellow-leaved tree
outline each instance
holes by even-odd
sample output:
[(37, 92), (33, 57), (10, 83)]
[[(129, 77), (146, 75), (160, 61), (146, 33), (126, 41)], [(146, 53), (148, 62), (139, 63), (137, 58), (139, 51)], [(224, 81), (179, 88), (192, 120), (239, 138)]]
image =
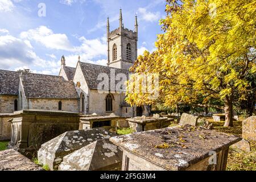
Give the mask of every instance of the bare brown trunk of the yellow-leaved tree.
[(232, 96), (226, 96), (225, 99), (225, 127), (232, 127), (233, 126), (233, 103), (232, 103)]

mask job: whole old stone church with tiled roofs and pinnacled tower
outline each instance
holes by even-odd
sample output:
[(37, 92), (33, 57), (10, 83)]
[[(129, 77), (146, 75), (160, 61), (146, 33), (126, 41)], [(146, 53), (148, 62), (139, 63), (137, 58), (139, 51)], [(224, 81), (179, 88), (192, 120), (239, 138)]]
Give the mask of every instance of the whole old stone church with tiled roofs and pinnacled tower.
[(129, 68), (137, 59), (138, 22), (135, 31), (123, 26), (122, 11), (119, 28), (110, 31), (107, 21), (108, 65), (96, 65), (77, 61), (76, 68), (67, 67), (61, 57), (59, 76), (28, 72), (0, 70), (0, 113), (18, 110), (62, 110), (82, 114), (114, 113), (121, 117), (148, 115), (147, 106), (131, 107), (125, 102), (125, 90), (98, 92), (98, 75), (110, 76), (123, 73), (128, 77)]

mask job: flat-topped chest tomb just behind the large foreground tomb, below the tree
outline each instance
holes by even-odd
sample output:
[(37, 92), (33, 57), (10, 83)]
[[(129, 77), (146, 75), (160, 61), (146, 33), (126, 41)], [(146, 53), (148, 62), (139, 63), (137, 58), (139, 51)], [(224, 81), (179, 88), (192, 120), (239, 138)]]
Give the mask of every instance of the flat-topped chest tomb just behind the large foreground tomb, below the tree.
[(155, 117), (135, 117), (126, 120), (135, 132), (160, 129), (171, 124), (170, 119), (160, 118), (159, 115), (155, 115)]

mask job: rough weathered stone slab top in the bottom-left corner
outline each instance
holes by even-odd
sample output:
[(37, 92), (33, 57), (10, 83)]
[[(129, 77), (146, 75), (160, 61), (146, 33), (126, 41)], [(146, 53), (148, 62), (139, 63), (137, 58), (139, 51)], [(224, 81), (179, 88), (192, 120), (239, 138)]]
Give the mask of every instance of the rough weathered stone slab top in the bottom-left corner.
[(0, 151), (0, 171), (42, 171), (43, 169), (18, 151)]

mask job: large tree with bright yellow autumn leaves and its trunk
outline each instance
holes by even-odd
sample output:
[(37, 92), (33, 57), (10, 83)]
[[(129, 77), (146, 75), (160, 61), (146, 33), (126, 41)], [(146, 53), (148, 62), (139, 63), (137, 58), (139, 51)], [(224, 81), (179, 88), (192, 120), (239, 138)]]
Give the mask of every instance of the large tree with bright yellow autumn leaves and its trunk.
[[(252, 91), (247, 77), (256, 74), (256, 1), (167, 0), (166, 12), (157, 50), (144, 52), (131, 68), (135, 76), (128, 82), (127, 102), (175, 106), (199, 105), (200, 100), (200, 106), (211, 106), (214, 98), (224, 103), (224, 126), (233, 126), (234, 100)], [(154, 100), (130, 92), (136, 85), (144, 87), (134, 81), (144, 73), (159, 74)]]

